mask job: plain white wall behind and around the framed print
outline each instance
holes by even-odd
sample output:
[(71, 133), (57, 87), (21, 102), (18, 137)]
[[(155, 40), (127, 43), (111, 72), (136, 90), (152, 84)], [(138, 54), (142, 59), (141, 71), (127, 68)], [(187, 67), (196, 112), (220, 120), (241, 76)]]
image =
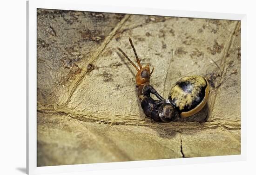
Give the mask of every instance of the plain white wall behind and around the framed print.
[[(247, 161), (86, 172), (87, 175), (255, 174), (256, 5), (253, 0), (93, 0), (88, 3), (247, 14)], [(0, 175), (26, 169), (26, 0), (0, 2)], [(68, 175), (85, 173), (70, 173)], [(67, 175), (67, 174), (65, 174)]]

